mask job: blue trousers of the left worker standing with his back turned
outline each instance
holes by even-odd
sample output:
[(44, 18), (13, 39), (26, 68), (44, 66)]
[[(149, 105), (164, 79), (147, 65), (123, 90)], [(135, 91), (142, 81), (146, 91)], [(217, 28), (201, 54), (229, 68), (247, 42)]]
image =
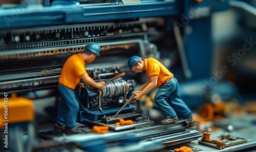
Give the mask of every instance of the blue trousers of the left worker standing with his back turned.
[(57, 124), (66, 124), (67, 128), (76, 126), (79, 103), (75, 91), (62, 85), (58, 85), (61, 102), (57, 113)]

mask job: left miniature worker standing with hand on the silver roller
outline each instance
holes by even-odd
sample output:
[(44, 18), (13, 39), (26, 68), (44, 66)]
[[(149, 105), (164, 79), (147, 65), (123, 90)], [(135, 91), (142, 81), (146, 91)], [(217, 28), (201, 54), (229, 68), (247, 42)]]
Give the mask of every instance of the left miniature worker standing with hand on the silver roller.
[(79, 103), (74, 91), (81, 79), (98, 89), (105, 86), (104, 82), (95, 82), (86, 71), (86, 63), (93, 62), (99, 56), (100, 46), (90, 43), (84, 48), (84, 52), (69, 57), (61, 70), (58, 90), (62, 100), (58, 108), (54, 130), (67, 133), (82, 132), (76, 128)]

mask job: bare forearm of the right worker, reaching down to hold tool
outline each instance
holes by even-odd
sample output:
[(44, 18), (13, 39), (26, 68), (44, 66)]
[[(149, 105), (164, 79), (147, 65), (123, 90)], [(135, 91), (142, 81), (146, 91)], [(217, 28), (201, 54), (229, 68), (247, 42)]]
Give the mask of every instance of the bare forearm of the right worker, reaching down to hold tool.
[(152, 89), (154, 89), (157, 86), (157, 79), (158, 79), (158, 75), (150, 77), (148, 79), (148, 84), (146, 83), (147, 85), (145, 86), (145, 88), (141, 92), (136, 93), (137, 95), (134, 98), (136, 100), (139, 100), (141, 98), (141, 96), (147, 94)]

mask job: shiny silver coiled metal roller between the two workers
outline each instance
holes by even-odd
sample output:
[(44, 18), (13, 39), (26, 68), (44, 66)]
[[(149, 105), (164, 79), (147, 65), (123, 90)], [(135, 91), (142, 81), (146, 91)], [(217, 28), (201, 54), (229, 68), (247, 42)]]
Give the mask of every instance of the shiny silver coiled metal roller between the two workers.
[(102, 98), (116, 97), (124, 95), (128, 90), (127, 83), (124, 80), (115, 80), (108, 82), (102, 89)]

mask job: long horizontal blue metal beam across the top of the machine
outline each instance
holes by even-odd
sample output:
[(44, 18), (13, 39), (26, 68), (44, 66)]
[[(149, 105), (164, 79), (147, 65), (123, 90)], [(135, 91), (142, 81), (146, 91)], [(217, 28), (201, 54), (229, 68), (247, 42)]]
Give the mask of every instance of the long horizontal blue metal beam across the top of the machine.
[(170, 16), (181, 13), (180, 1), (157, 1), (140, 4), (52, 5), (50, 7), (19, 5), (0, 9), (0, 30), (22, 27), (52, 26), (84, 21), (102, 21), (134, 17)]

